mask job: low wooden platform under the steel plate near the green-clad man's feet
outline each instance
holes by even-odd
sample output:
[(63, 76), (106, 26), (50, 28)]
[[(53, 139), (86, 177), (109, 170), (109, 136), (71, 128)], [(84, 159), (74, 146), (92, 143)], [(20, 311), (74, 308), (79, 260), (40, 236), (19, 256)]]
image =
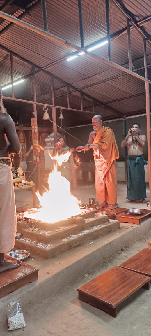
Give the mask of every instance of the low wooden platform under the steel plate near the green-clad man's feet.
[(119, 222), (126, 222), (126, 223), (133, 223), (133, 224), (140, 225), (141, 219), (148, 215), (151, 215), (151, 210), (145, 210), (145, 213), (143, 213), (142, 215), (131, 215), (129, 213), (121, 212), (120, 214), (116, 215), (116, 218), (117, 220), (119, 220)]

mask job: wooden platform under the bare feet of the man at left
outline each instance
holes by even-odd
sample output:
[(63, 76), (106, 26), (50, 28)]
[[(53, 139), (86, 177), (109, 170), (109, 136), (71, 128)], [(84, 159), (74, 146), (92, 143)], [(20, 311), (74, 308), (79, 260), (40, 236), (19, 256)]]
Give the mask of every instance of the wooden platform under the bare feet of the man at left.
[[(6, 260), (16, 260), (5, 255)], [(26, 264), (0, 273), (0, 298), (38, 279), (39, 268)]]

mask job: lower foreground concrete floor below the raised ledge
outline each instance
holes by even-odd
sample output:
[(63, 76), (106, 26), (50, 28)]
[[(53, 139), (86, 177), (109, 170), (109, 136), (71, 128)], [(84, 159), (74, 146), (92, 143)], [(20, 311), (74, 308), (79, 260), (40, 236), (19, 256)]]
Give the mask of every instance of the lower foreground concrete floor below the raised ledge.
[[(142, 336), (151, 335), (150, 311), (151, 289), (140, 289), (118, 309), (117, 318), (78, 300), (76, 288), (95, 278), (102, 272), (119, 265), (128, 257), (147, 247), (151, 232), (134, 244), (119, 250), (100, 266), (89, 270), (64, 290), (48, 295), (34, 307), (23, 305), (26, 327), (12, 331), (13, 336)], [(123, 284), (124, 285), (124, 284)], [(51, 287), (50, 287), (51, 292)], [(0, 327), (0, 335), (8, 335), (7, 327)]]

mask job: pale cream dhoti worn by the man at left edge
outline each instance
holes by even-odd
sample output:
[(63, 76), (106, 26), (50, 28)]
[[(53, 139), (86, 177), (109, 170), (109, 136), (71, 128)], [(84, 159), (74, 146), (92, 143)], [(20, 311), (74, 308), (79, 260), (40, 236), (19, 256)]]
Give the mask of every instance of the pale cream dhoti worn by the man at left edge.
[(17, 218), (11, 167), (0, 163), (0, 253), (13, 249), (16, 230)]

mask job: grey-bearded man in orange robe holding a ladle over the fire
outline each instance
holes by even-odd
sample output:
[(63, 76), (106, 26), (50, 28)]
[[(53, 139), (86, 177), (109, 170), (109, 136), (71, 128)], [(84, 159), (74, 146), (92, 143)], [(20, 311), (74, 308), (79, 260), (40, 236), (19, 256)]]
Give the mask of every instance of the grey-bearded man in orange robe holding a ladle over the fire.
[(85, 152), (93, 149), (97, 199), (102, 202), (101, 208), (112, 210), (118, 207), (115, 160), (119, 158), (119, 150), (113, 130), (103, 126), (100, 115), (92, 118), (92, 127), (94, 131), (90, 133), (87, 145), (79, 146), (76, 150)]

